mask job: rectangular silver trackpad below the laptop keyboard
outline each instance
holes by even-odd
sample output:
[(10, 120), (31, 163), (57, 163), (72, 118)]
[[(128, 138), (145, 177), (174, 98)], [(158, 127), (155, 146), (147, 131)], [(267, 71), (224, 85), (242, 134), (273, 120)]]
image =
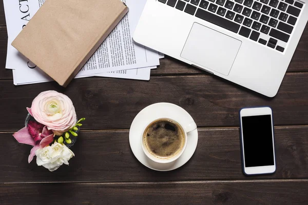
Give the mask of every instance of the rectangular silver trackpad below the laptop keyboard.
[(242, 42), (194, 23), (181, 57), (209, 70), (228, 75)]

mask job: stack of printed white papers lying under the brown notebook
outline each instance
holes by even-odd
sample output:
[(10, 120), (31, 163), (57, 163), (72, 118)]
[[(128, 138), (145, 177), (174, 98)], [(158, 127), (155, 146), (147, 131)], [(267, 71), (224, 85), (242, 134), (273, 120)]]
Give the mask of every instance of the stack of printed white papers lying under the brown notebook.
[[(132, 34), (137, 26), (146, 0), (122, 0), (129, 8), (127, 15), (110, 33), (104, 43), (93, 54), (75, 78), (101, 76), (149, 80), (150, 70), (157, 68), (157, 51), (137, 45)], [(11, 1), (4, 0), (8, 30), (6, 69), (12, 69), (14, 85), (25, 85), (52, 81), (40, 68), (11, 46), (12, 41), (27, 25), (31, 17), (45, 0)]]

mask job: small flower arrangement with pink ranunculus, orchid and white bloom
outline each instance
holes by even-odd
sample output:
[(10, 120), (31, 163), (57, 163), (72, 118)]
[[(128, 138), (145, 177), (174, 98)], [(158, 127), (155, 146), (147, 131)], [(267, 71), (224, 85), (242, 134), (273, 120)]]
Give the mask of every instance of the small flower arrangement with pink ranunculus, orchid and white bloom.
[(75, 156), (69, 149), (76, 141), (85, 118), (77, 119), (71, 99), (56, 91), (38, 94), (27, 108), (25, 127), (13, 136), (22, 143), (33, 146), (28, 157), (49, 171), (55, 171)]

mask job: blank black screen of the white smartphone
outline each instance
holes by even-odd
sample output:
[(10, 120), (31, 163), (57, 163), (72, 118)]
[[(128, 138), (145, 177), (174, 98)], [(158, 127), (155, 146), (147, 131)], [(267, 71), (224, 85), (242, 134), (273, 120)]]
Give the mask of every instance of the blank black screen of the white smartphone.
[(272, 116), (242, 117), (245, 167), (274, 165)]

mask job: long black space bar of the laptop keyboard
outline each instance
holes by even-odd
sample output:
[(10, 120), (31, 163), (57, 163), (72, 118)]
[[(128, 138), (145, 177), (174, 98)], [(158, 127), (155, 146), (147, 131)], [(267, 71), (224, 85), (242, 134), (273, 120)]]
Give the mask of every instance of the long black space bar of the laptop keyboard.
[(237, 33), (240, 29), (240, 25), (238, 25), (234, 22), (231, 22), (228, 19), (220, 17), (216, 14), (207, 12), (203, 9), (198, 9), (197, 12), (196, 12), (196, 16), (198, 18), (206, 20), (209, 23), (215, 24), (217, 26), (220, 26), (222, 28), (225, 28), (225, 29), (232, 31), (232, 32), (235, 32), (235, 33)]

